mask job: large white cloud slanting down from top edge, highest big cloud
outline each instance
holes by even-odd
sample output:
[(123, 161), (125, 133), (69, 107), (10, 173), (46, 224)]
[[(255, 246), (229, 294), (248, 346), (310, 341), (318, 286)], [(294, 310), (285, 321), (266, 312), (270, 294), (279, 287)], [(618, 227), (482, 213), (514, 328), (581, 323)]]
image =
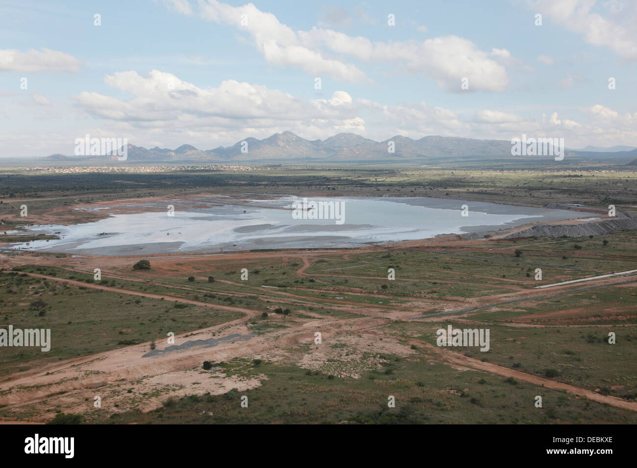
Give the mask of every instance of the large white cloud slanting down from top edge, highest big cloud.
[(371, 82), (359, 67), (329, 56), (338, 53), (364, 62), (396, 64), (412, 73), (423, 72), (448, 90), (460, 90), (462, 78), (469, 79), (470, 90), (501, 91), (508, 84), (505, 67), (492, 58), (511, 62), (508, 50), (487, 53), (458, 36), (372, 43), (362, 36), (322, 27), (294, 31), (252, 3), (234, 7), (217, 0), (201, 0), (199, 6), (204, 19), (232, 25), (252, 36), (268, 63), (299, 67), (313, 75), (328, 74), (350, 83)]

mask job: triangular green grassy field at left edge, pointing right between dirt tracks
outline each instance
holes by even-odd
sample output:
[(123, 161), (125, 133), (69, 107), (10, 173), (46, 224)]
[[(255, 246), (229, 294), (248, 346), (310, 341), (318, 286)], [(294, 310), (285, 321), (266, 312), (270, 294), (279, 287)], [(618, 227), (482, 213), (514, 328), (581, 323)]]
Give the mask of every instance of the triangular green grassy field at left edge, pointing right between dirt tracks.
[[(73, 276), (73, 275), (71, 275)], [(241, 313), (147, 297), (112, 294), (0, 272), (0, 327), (50, 329), (51, 349), (6, 347), (0, 355), (0, 377), (36, 369), (55, 360), (87, 356), (131, 344), (164, 339), (239, 318)]]

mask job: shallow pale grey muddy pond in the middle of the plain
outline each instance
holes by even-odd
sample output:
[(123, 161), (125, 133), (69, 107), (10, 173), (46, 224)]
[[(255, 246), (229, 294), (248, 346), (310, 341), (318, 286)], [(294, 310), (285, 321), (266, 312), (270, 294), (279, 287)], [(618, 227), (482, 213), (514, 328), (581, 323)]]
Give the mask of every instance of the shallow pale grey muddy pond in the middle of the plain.
[(110, 216), (77, 225), (33, 225), (22, 232), (59, 232), (61, 239), (12, 247), (94, 255), (350, 248), (582, 216), (565, 209), (426, 197), (315, 197), (311, 201), (336, 204), (339, 210), (328, 219), (299, 219), (293, 216), (293, 202), (298, 200), (287, 196), (176, 199), (171, 202), (176, 207), (172, 214), (144, 202), (128, 206), (125, 213), (118, 211), (121, 207), (100, 207)]

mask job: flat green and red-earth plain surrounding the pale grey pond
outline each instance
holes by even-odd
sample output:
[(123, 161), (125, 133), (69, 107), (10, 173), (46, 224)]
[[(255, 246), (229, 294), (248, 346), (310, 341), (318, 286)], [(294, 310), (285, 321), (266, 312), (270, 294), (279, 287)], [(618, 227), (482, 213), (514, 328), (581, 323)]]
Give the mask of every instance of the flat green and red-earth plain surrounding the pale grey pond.
[[(3, 228), (25, 223), (21, 204), (29, 207), (29, 224), (70, 224), (104, 216), (86, 209), (96, 206), (245, 193), (571, 203), (585, 205), (576, 208), (582, 216), (605, 219), (608, 204), (634, 213), (637, 190), (632, 169), (585, 162), (568, 171), (178, 171), (169, 187), (166, 174), (101, 175), (80, 182), (73, 174), (3, 169), (0, 176), (9, 182), (0, 204)], [(637, 422), (636, 277), (536, 288), (636, 269), (635, 231), (580, 238), (506, 234), (143, 257), (4, 248), (0, 328), (49, 328), (52, 347), (0, 352), (0, 418)], [(15, 236), (0, 240), (15, 242)], [(139, 260), (148, 260), (150, 269), (133, 269)], [(436, 330), (448, 325), (489, 329), (489, 351), (437, 346)], [(389, 397), (395, 408), (388, 407)]]

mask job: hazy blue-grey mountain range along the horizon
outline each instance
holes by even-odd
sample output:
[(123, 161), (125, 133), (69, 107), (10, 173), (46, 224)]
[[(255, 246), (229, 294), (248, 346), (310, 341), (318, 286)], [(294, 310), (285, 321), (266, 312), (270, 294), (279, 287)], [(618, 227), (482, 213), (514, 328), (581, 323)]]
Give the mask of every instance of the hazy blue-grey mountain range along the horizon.
[[(393, 142), (394, 152), (389, 151), (391, 142)], [(182, 145), (175, 150), (159, 148), (159, 146), (147, 149), (143, 146), (134, 146), (129, 143), (127, 161), (171, 163), (425, 162), (426, 160), (446, 159), (449, 157), (511, 157), (511, 146), (511, 142), (506, 140), (445, 136), (426, 136), (420, 139), (394, 136), (378, 142), (352, 133), (340, 133), (324, 140), (308, 140), (293, 132), (283, 132), (264, 139), (246, 138), (233, 146), (219, 146), (212, 150), (199, 150), (192, 145)], [(610, 148), (608, 149), (610, 150)], [(605, 154), (566, 150), (566, 156), (579, 153), (582, 153), (582, 155)], [(637, 157), (637, 150), (607, 152), (607, 154)], [(74, 157), (55, 154), (43, 159), (110, 162), (117, 161), (117, 156)]]

